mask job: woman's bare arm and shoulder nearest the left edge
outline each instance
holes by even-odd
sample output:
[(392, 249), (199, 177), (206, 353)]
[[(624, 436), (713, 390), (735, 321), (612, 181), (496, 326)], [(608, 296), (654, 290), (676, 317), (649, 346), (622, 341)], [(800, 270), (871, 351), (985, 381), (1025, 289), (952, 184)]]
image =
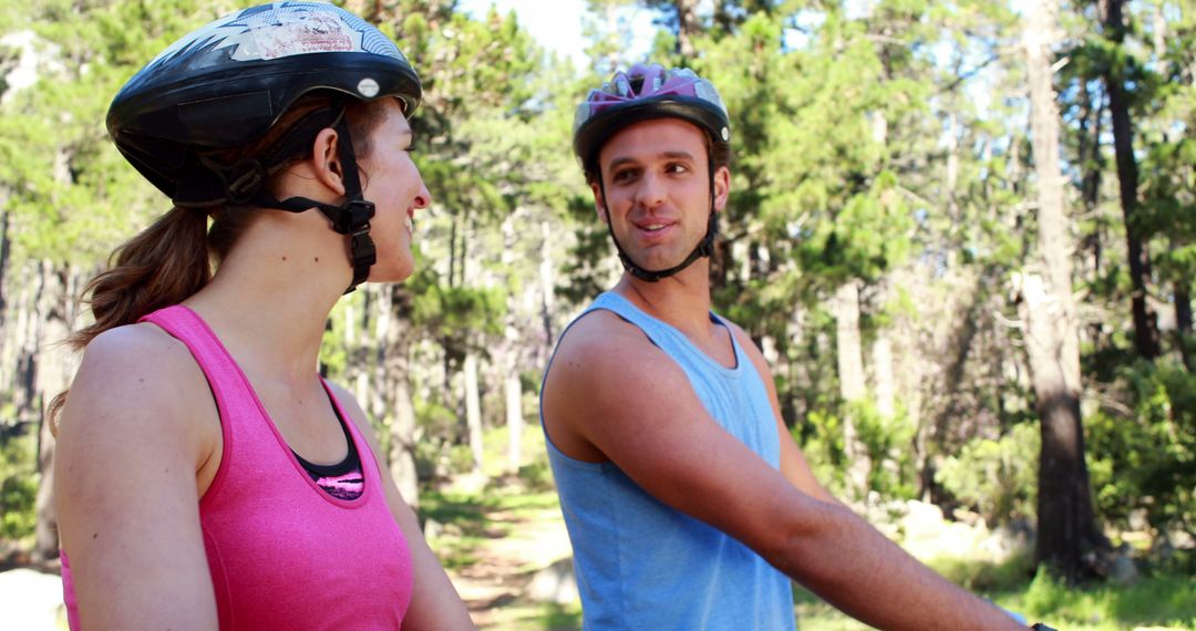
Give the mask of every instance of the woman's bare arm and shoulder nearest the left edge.
[(152, 325), (108, 331), (84, 355), (54, 476), (84, 629), (216, 629), (196, 488), (220, 431), (206, 384)]

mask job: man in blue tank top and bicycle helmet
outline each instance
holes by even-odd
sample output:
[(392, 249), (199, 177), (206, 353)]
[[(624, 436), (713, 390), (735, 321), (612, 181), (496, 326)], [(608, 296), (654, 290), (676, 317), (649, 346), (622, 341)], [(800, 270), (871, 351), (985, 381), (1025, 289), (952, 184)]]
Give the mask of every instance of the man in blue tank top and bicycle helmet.
[(886, 629), (1018, 629), (836, 502), (746, 333), (710, 311), (731, 185), (714, 86), (635, 66), (574, 151), (626, 268), (562, 336), (542, 416), (586, 629), (793, 629), (789, 580)]

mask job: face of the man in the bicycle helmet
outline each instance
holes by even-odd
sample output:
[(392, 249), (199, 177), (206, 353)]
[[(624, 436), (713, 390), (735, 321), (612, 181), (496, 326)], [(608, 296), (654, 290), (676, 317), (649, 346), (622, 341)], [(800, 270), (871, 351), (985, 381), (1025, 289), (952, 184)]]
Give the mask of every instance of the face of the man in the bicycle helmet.
[[(606, 189), (592, 185), (598, 216), (610, 221), (623, 251), (645, 269), (679, 264), (706, 235), (710, 210), (706, 135), (678, 118), (636, 123), (598, 153)], [(726, 204), (730, 171), (714, 178), (715, 209)]]

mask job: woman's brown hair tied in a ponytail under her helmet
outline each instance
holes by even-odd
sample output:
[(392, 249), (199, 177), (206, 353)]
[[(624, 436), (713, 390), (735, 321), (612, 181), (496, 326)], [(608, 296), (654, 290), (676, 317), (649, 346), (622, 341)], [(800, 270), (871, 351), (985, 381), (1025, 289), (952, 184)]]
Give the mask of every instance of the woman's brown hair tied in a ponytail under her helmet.
[[(258, 155), (304, 115), (329, 105), (327, 94), (304, 97), (262, 139), (232, 149), (219, 159), (233, 164), (242, 158)], [(346, 108), (354, 155), (359, 159), (373, 151), (371, 133), (384, 118), (384, 110), (376, 105), (379, 103), (353, 102)], [(306, 155), (288, 160), (277, 172), (310, 155), (309, 147)], [(361, 176), (365, 178), (366, 173)], [(279, 176), (275, 176), (268, 186), (273, 189), (277, 179)], [(210, 231), (209, 214), (213, 219)], [(83, 350), (109, 329), (134, 324), (147, 313), (190, 298), (212, 280), (213, 262), (219, 263), (228, 255), (257, 216), (251, 207), (244, 206), (218, 207), (210, 213), (172, 208), (118, 246), (109, 257), (109, 268), (87, 283), (83, 295), (91, 306), (94, 321), (71, 333), (66, 343), (77, 351)], [(50, 402), (47, 413), (55, 431), (57, 416), (69, 392), (62, 391)]]

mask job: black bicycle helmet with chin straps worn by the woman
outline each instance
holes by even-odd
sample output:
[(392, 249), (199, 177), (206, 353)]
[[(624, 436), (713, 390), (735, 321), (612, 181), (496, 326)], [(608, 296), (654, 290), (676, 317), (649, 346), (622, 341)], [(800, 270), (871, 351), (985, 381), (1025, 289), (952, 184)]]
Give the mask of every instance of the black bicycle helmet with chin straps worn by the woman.
[[(216, 155), (260, 140), (303, 96), (327, 91), (330, 106), (305, 115), (261, 155), (222, 164)], [(300, 213), (319, 208), (350, 238), (353, 290), (376, 261), (373, 204), (361, 196), (347, 99), (420, 104), (419, 75), (377, 27), (324, 2), (273, 2), (202, 26), (154, 57), (116, 94), (108, 130), (121, 154), (182, 208), (252, 204)], [(323, 128), (337, 129), (346, 170), (341, 206), (264, 191), (267, 179), (307, 155)]]

